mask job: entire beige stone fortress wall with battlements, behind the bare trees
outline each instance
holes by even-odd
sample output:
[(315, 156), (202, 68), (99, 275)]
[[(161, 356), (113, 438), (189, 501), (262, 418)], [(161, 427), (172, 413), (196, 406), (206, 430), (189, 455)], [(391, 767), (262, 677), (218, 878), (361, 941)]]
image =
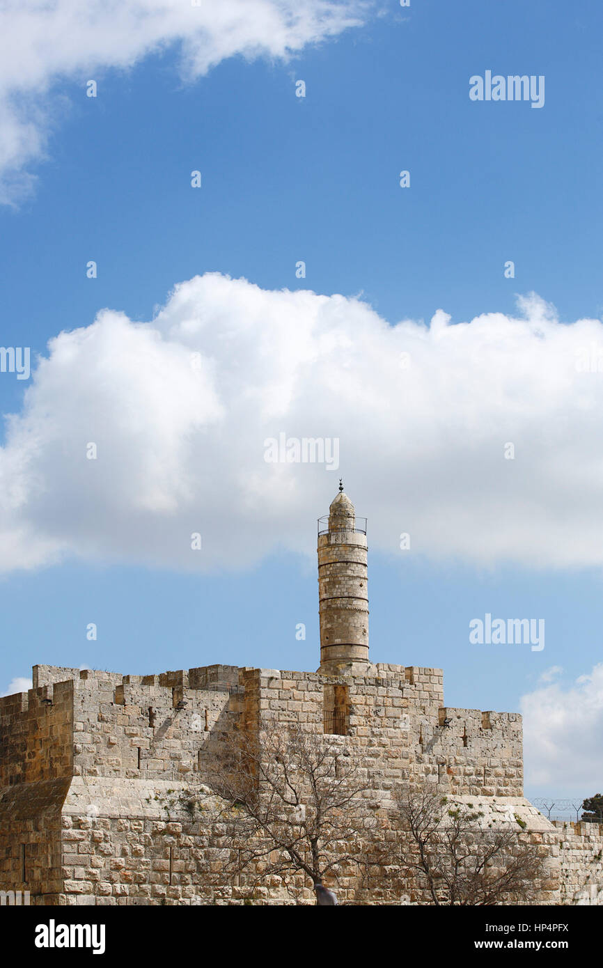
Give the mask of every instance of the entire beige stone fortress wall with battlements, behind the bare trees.
[[(427, 781), (442, 795), (480, 798), (486, 813), (504, 815), (546, 852), (541, 896), (552, 903), (561, 834), (523, 799), (521, 717), (444, 707), (437, 669), (374, 669), (337, 678), (210, 666), (136, 677), (36, 667), (34, 689), (0, 700), (0, 888), (29, 890), (37, 904), (290, 901), (278, 879), (252, 890), (251, 874), (221, 877), (228, 845), (187, 807), (210, 744), (219, 748), (234, 724), (257, 732), (274, 718), (354, 751), (370, 781), (366, 806), (386, 828), (400, 784)], [(597, 863), (589, 837), (566, 837), (568, 903)], [(309, 885), (304, 896), (314, 901)], [(391, 899), (370, 894), (351, 872), (340, 896)]]

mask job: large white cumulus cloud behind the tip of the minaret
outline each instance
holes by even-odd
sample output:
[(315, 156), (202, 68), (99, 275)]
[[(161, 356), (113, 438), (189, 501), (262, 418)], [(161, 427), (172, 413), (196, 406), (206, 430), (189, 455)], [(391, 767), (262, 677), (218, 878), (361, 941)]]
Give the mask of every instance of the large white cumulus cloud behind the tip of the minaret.
[[(216, 273), (148, 323), (104, 310), (49, 342), (8, 418), (0, 569), (314, 554), (340, 474), (374, 549), (600, 565), (602, 329), (560, 323), (537, 296), (517, 318), (389, 325), (356, 298)], [(337, 441), (339, 467), (267, 463), (282, 434)]]

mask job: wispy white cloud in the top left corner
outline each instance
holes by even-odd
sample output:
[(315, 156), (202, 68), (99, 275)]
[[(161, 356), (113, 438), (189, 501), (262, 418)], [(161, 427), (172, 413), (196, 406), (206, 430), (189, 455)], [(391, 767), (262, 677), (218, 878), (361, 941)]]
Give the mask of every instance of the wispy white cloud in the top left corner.
[(364, 0), (5, 0), (0, 10), (0, 200), (31, 186), (60, 82), (176, 45), (185, 79), (240, 54), (286, 58), (358, 26)]

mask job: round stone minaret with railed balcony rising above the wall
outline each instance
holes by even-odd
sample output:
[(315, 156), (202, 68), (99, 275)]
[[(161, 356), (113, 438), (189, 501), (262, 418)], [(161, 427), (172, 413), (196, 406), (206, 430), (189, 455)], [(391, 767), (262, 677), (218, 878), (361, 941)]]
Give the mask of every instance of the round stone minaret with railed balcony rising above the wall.
[(366, 519), (356, 519), (344, 494), (318, 520), (320, 668), (330, 676), (363, 675), (369, 668)]

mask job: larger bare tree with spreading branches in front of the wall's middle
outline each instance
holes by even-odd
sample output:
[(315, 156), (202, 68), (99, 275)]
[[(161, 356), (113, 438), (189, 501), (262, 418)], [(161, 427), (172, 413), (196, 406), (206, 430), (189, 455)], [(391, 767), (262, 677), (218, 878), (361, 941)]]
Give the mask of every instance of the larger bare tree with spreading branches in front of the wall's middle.
[(205, 783), (223, 803), (214, 828), (232, 872), (278, 876), (298, 896), (306, 878), (316, 890), (359, 868), (374, 827), (370, 786), (338, 737), (271, 720), (255, 736), (234, 732), (219, 743)]

